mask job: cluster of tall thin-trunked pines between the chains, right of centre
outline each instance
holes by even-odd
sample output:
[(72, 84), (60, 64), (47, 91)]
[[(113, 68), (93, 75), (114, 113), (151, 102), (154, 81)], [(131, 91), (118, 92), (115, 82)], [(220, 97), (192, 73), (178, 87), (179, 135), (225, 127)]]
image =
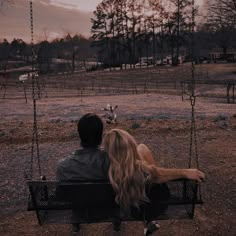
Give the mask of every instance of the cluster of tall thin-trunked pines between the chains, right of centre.
[(157, 54), (163, 60), (167, 49), (176, 63), (191, 33), (191, 13), (191, 0), (103, 0), (92, 19), (93, 44), (112, 65)]

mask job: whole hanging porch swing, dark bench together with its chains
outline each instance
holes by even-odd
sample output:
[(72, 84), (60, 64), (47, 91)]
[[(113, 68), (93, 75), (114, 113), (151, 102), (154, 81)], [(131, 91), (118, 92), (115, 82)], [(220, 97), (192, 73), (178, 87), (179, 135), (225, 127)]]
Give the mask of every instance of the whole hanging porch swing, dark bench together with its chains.
[[(194, 22), (194, 1), (192, 22)], [(32, 46), (32, 72), (35, 71), (35, 56), (33, 42), (33, 6), (30, 1), (31, 19), (31, 46)], [(194, 27), (194, 25), (193, 25)], [(194, 30), (194, 28), (193, 28)], [(193, 153), (198, 168), (197, 134), (195, 125), (195, 83), (194, 63), (192, 62), (192, 91), (191, 101), (191, 130), (189, 147), (189, 168), (193, 164)], [(40, 98), (38, 77), (32, 76), (33, 97), (33, 134), (30, 158), (30, 170), (25, 172), (26, 182), (29, 188), (28, 210), (35, 211), (39, 225), (44, 224), (70, 224), (70, 223), (98, 223), (119, 221), (151, 221), (161, 219), (193, 218), (195, 206), (202, 204), (201, 189), (199, 183), (187, 179), (178, 179), (166, 184), (147, 185), (147, 195), (150, 203), (141, 206), (139, 211), (132, 211), (129, 216), (120, 216), (120, 207), (115, 202), (113, 189), (108, 182), (79, 181), (61, 183), (46, 180), (42, 177), (39, 139), (37, 128), (37, 99)], [(38, 180), (34, 177), (34, 153), (36, 146), (36, 159), (38, 166)], [(167, 187), (168, 186), (168, 187)], [(164, 197), (163, 197), (164, 196)], [(76, 217), (75, 217), (76, 216)]]

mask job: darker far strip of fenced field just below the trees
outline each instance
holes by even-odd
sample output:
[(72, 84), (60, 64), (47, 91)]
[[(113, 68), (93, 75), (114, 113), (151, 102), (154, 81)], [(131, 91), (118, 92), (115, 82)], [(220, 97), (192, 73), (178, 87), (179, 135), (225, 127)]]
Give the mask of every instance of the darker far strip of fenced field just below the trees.
[[(202, 64), (195, 66), (197, 95), (201, 97), (222, 98), (226, 96), (227, 83), (235, 84), (235, 64)], [(232, 73), (234, 72), (234, 73)], [(18, 75), (19, 76), (19, 75)], [(30, 80), (18, 80), (0, 77), (0, 98), (30, 99), (32, 85)], [(75, 74), (40, 75), (36, 91), (41, 98), (65, 98), (168, 93), (179, 95), (188, 94), (188, 88), (182, 87), (183, 82), (190, 81), (191, 65), (179, 67), (137, 68), (121, 71), (94, 71)]]

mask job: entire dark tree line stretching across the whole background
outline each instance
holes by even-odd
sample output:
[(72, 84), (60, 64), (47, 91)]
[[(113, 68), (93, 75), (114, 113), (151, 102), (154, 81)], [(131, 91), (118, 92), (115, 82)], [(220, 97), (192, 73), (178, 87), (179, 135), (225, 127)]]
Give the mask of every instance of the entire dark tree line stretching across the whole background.
[[(0, 9), (10, 3), (12, 0), (0, 0)], [(167, 54), (171, 55), (172, 64), (177, 65), (182, 54), (197, 60), (201, 50), (216, 47), (223, 50), (226, 59), (228, 49), (236, 46), (236, 0), (206, 0), (203, 11), (193, 3), (193, 0), (103, 0), (93, 12), (91, 38), (67, 34), (34, 45), (39, 69), (50, 72), (53, 58), (67, 60), (67, 70), (73, 72), (76, 61), (87, 58), (96, 58), (107, 67), (123, 68), (124, 64), (139, 63), (141, 57), (163, 62)], [(2, 40), (0, 69), (9, 68), (10, 60), (30, 64), (31, 45), (22, 39)]]

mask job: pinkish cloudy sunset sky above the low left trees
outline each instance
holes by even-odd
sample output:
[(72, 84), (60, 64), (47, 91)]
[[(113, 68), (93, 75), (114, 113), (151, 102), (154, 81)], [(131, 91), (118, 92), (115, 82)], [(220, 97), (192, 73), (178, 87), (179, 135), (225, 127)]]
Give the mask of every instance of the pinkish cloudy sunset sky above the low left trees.
[[(33, 0), (35, 40), (54, 39), (70, 34), (91, 36), (93, 11), (102, 0)], [(164, 0), (163, 0), (164, 1)], [(201, 3), (203, 0), (196, 0)], [(30, 40), (29, 0), (17, 0), (1, 9), (0, 41)]]

